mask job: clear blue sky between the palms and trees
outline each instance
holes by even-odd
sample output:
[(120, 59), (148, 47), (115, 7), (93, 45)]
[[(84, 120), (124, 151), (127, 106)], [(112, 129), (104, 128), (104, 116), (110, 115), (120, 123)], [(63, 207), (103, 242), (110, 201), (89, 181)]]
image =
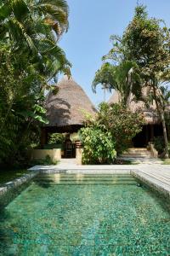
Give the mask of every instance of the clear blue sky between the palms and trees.
[[(136, 0), (67, 0), (70, 28), (60, 41), (72, 63), (73, 79), (86, 91), (95, 105), (104, 99), (102, 90), (94, 94), (91, 84), (101, 66), (101, 57), (111, 49), (111, 34), (122, 35), (133, 18)], [(170, 0), (140, 0), (149, 15), (170, 26)], [(108, 95), (110, 97), (111, 95)]]

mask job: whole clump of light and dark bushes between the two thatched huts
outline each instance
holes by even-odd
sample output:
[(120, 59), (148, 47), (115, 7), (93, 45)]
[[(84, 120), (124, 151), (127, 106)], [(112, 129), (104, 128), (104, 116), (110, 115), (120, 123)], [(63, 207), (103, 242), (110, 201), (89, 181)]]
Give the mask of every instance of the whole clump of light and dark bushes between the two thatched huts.
[(86, 127), (81, 129), (86, 164), (113, 163), (116, 153), (121, 154), (127, 149), (128, 143), (144, 125), (141, 113), (132, 113), (120, 104), (102, 103), (96, 119), (87, 118)]

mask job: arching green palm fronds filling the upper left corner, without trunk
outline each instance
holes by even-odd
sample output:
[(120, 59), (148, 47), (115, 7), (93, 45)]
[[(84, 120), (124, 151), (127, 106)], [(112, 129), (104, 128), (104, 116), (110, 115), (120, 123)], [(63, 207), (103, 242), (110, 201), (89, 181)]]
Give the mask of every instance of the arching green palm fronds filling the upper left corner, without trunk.
[(57, 45), (59, 37), (68, 29), (68, 14), (65, 0), (3, 1), (0, 39), (17, 53), (29, 52), (48, 79), (59, 71), (70, 73), (71, 63)]

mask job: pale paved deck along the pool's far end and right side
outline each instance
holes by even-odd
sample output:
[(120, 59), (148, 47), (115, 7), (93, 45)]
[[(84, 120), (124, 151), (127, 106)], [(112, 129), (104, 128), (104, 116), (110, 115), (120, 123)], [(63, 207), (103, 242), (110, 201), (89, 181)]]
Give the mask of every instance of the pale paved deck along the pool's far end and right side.
[(162, 192), (170, 198), (170, 165), (150, 162), (138, 165), (110, 165), (110, 166), (77, 166), (73, 160), (61, 161), (57, 166), (34, 166), (31, 171), (88, 173), (88, 174), (118, 174), (130, 173), (147, 183), (153, 189)]

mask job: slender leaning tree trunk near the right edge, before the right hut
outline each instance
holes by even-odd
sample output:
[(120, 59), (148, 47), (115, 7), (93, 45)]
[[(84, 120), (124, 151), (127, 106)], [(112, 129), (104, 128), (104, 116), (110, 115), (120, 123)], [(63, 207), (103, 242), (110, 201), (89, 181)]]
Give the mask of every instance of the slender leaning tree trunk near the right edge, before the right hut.
[(161, 118), (161, 124), (162, 124), (162, 129), (163, 129), (163, 137), (164, 137), (164, 143), (165, 143), (165, 158), (168, 158), (169, 157), (169, 151), (168, 151), (167, 127), (166, 127), (166, 123), (165, 123), (165, 116), (164, 116), (164, 112), (161, 108), (161, 104), (159, 104), (158, 101), (157, 101), (155, 84), (152, 85), (152, 88), (153, 88), (153, 92), (154, 92), (154, 98), (155, 98), (155, 101), (156, 101), (157, 112), (159, 113), (159, 116)]

